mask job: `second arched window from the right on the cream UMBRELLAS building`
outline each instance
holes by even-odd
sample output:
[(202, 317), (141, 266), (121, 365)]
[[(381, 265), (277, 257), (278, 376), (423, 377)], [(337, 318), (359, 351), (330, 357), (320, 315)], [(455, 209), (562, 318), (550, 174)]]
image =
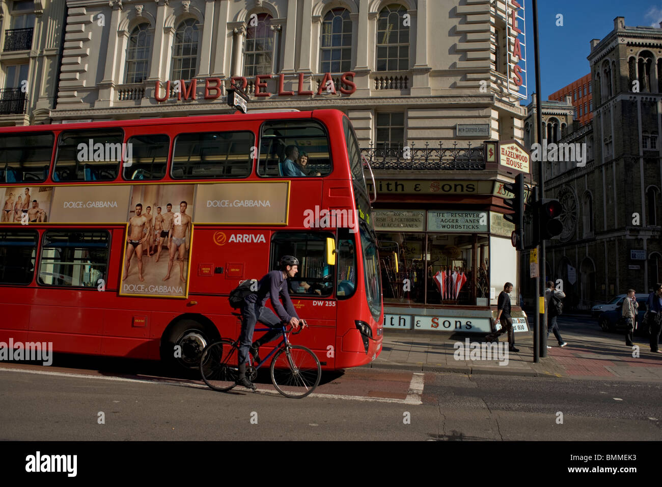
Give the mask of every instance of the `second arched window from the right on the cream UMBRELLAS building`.
[(322, 73), (343, 73), (352, 64), (352, 21), (347, 9), (333, 9), (322, 22)]

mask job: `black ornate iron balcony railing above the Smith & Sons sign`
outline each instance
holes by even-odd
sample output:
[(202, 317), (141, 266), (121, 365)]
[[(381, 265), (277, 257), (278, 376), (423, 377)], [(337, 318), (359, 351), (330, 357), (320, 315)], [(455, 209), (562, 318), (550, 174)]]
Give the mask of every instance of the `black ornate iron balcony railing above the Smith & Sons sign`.
[(439, 148), (430, 147), (426, 142), (424, 148), (416, 148), (414, 142), (403, 148), (370, 148), (361, 149), (373, 169), (391, 170), (483, 170), (485, 158), (483, 145), (468, 147), (444, 148), (439, 142)]

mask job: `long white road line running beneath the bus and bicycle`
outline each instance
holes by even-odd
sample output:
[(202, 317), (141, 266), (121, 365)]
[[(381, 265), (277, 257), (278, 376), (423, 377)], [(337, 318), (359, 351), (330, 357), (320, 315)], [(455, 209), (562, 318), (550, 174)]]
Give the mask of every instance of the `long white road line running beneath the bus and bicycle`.
[[(138, 382), (141, 384), (157, 384), (164, 386), (179, 386), (179, 387), (193, 387), (200, 389), (209, 389), (206, 384), (196, 384), (195, 382), (173, 382), (164, 379), (129, 379), (125, 377), (109, 377), (109, 376), (91, 376), (87, 374), (71, 374), (68, 372), (46, 372), (45, 370), (22, 370), (16, 368), (4, 368), (0, 367), (0, 372), (22, 372), (24, 374), (39, 374), (46, 376), (58, 376), (58, 377), (75, 377), (81, 379), (95, 379), (95, 380), (115, 380), (117, 382)], [(234, 390), (234, 389), (233, 389)], [(242, 390), (237, 389), (240, 392), (248, 393), (248, 389)], [(281, 394), (273, 389), (263, 389), (258, 388), (257, 392), (263, 394), (273, 394), (274, 396), (281, 396)], [(363, 402), (386, 402), (391, 404), (411, 404), (417, 406), (422, 404), (420, 400), (420, 394), (423, 392), (423, 374), (420, 372), (414, 372), (414, 376), (409, 384), (409, 391), (405, 399), (397, 398), (371, 398), (367, 396), (348, 396), (346, 394), (320, 394), (313, 392), (308, 396), (308, 398), (321, 398), (321, 399), (341, 399), (341, 400), (350, 400), (350, 401), (363, 401)]]

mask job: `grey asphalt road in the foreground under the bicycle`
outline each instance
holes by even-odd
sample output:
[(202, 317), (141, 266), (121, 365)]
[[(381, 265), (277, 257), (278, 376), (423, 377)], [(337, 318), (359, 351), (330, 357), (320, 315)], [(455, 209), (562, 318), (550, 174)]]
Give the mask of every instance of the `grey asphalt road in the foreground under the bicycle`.
[(264, 376), (257, 393), (219, 393), (200, 381), (98, 370), (3, 364), (0, 440), (661, 437), (657, 383), (354, 368), (292, 400)]

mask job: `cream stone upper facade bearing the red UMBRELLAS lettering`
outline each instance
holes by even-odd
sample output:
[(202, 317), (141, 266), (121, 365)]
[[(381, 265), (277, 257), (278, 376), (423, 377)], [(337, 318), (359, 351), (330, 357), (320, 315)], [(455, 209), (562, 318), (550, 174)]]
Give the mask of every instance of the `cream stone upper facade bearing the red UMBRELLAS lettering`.
[[(514, 36), (506, 40), (512, 20), (504, 1), (67, 0), (67, 6), (54, 121), (223, 113), (224, 91), (205, 99), (205, 80), (228, 85), (243, 76), (252, 109), (341, 109), (362, 146), (521, 142), (524, 135), (524, 111), (508, 93)], [(328, 91), (327, 72), (334, 81)], [(265, 83), (260, 96), (256, 75)], [(184, 80), (186, 90), (193, 78), (196, 99), (178, 97), (175, 81)], [(172, 96), (157, 101), (167, 81)], [(458, 135), (458, 124), (489, 127)]]

